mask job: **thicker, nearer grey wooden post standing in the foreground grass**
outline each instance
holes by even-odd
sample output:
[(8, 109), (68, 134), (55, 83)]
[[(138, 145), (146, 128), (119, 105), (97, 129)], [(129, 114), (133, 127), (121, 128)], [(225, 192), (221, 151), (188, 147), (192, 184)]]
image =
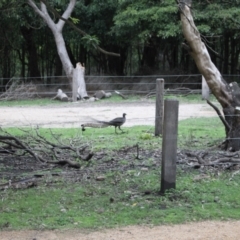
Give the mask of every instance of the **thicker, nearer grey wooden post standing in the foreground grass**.
[(161, 194), (176, 187), (178, 100), (164, 101)]

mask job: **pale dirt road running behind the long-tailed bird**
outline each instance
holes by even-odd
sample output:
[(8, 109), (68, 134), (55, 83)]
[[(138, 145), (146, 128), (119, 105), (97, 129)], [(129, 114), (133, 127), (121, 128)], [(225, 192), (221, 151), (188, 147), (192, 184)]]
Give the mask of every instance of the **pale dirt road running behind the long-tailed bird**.
[[(154, 125), (154, 103), (89, 104), (67, 103), (56, 106), (39, 107), (0, 107), (0, 125), (42, 126), (42, 127), (80, 127), (89, 117), (108, 120), (127, 113), (125, 126)], [(179, 119), (191, 117), (217, 116), (207, 104), (180, 104)]]

